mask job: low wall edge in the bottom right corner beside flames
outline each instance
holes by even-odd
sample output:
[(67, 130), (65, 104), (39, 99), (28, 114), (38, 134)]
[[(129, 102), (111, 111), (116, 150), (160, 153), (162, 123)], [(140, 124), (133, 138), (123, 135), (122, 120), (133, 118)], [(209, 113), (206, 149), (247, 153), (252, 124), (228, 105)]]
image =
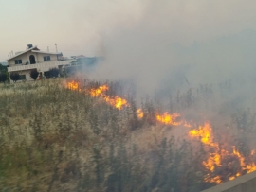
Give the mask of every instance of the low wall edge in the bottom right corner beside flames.
[(256, 172), (238, 177), (235, 180), (201, 192), (255, 192), (256, 191)]

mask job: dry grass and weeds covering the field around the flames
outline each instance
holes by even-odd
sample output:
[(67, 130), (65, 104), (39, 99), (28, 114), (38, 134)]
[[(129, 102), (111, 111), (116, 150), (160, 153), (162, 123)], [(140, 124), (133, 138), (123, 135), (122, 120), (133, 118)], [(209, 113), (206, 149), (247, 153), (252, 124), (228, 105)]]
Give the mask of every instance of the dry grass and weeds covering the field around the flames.
[[(119, 82), (108, 85), (109, 96), (121, 92)], [(90, 89), (99, 82), (82, 81), (81, 86)], [(216, 184), (205, 180), (208, 174), (228, 181), (241, 169), (238, 159), (230, 156), (209, 172), (202, 164), (209, 148), (189, 137), (191, 128), (155, 119), (155, 113), (168, 110), (196, 125), (209, 120), (219, 144), (239, 147), (247, 158), (254, 145), (246, 142), (255, 135), (254, 113), (232, 111), (232, 100), (226, 102), (229, 83), (218, 89), (218, 96), (210, 85), (177, 92), (169, 105), (144, 99), (139, 119), (132, 96), (130, 106), (119, 110), (67, 89), (64, 79), (0, 85), (0, 188), (197, 192)]]

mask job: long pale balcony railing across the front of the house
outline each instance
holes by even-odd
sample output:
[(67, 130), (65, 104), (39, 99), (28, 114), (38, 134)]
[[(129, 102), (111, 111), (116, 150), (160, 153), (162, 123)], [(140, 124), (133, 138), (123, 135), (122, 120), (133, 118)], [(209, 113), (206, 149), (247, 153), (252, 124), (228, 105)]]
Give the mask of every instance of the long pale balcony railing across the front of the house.
[[(23, 70), (29, 70), (29, 69), (45, 69), (48, 70), (50, 68), (58, 67), (59, 65), (66, 65), (70, 64), (71, 61), (74, 60), (65, 60), (65, 61), (43, 61), (36, 64), (27, 64), (27, 65), (17, 65), (17, 66), (9, 66), (8, 72), (13, 71), (23, 71)], [(44, 71), (45, 71), (44, 70)]]

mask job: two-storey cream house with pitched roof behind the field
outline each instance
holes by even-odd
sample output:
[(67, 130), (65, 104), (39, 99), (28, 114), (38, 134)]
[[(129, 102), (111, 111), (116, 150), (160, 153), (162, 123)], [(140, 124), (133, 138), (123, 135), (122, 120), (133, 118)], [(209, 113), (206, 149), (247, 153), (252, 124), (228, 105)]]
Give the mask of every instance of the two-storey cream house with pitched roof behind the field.
[(73, 60), (63, 60), (62, 53), (41, 51), (37, 46), (27, 44), (25, 51), (10, 54), (8, 61), (8, 72), (19, 73), (21, 79), (31, 80), (30, 71), (37, 69), (42, 77), (50, 68), (59, 68), (68, 65)]

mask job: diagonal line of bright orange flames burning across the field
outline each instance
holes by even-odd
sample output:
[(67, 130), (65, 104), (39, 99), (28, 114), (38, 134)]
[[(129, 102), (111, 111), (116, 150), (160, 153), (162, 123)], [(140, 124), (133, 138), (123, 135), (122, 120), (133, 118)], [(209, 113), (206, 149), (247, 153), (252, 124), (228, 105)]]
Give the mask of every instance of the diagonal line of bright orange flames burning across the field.
[[(79, 87), (79, 83), (76, 81), (68, 82), (66, 87), (70, 90), (79, 90), (82, 89)], [(100, 86), (99, 88), (93, 88), (90, 89), (87, 93), (92, 97), (99, 97), (102, 100), (104, 100), (109, 105), (121, 110), (123, 107), (129, 107), (129, 103), (126, 99), (121, 98), (119, 96), (108, 96), (107, 91), (109, 90), (109, 87), (105, 84)], [(86, 91), (86, 90), (85, 90)], [(86, 93), (86, 92), (85, 92)], [(141, 109), (137, 109), (137, 118), (141, 119), (143, 118), (144, 113)], [(155, 119), (163, 123), (165, 125), (174, 125), (179, 126), (182, 125), (187, 128), (192, 128), (193, 123), (187, 123), (184, 120), (180, 119), (179, 113), (163, 113), (163, 114), (155, 114)], [(204, 177), (204, 181), (207, 183), (223, 183), (226, 178), (229, 180), (234, 180), (235, 178), (245, 174), (250, 173), (253, 171), (256, 171), (256, 165), (253, 163), (253, 158), (255, 155), (255, 150), (252, 150), (250, 152), (250, 156), (248, 157), (246, 161), (246, 157), (241, 154), (239, 151), (239, 148), (233, 147), (232, 151), (229, 151), (224, 148), (220, 148), (220, 144), (214, 141), (213, 137), (213, 131), (212, 127), (210, 126), (209, 122), (204, 123), (203, 125), (199, 126), (197, 129), (192, 129), (189, 131), (189, 135), (192, 138), (197, 138), (200, 140), (200, 142), (204, 145), (204, 148), (206, 148), (207, 152), (209, 153), (209, 157), (202, 162), (202, 165), (205, 167), (205, 169), (208, 171), (208, 174)], [(239, 170), (228, 177), (225, 177), (225, 175), (221, 175), (222, 167), (227, 166), (223, 165), (225, 163), (224, 160), (226, 159), (236, 159), (239, 162)], [(217, 171), (216, 171), (217, 169)], [(215, 175), (216, 172), (220, 172), (220, 175)]]

